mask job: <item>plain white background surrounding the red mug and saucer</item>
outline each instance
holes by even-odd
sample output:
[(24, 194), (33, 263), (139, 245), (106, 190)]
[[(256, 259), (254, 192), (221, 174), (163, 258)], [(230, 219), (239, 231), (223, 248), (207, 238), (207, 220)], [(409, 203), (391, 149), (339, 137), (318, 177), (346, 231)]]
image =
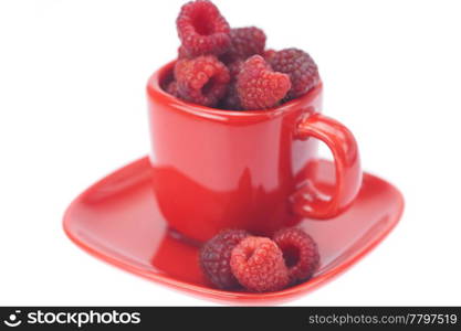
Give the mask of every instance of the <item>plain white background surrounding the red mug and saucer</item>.
[[(399, 226), (287, 305), (461, 305), (459, 1), (216, 1), (316, 60), (324, 110), (406, 197)], [(457, 3), (458, 2), (458, 3)], [(147, 153), (145, 83), (182, 1), (0, 1), (0, 305), (213, 305), (88, 256), (67, 204)]]

